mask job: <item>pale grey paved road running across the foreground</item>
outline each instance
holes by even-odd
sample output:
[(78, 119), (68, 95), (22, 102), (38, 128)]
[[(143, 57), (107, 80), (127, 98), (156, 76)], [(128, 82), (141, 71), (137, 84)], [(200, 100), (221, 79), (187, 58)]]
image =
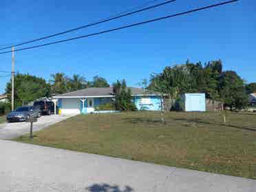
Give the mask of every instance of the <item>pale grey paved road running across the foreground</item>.
[(256, 191), (256, 180), (8, 140), (0, 151), (3, 192)]

